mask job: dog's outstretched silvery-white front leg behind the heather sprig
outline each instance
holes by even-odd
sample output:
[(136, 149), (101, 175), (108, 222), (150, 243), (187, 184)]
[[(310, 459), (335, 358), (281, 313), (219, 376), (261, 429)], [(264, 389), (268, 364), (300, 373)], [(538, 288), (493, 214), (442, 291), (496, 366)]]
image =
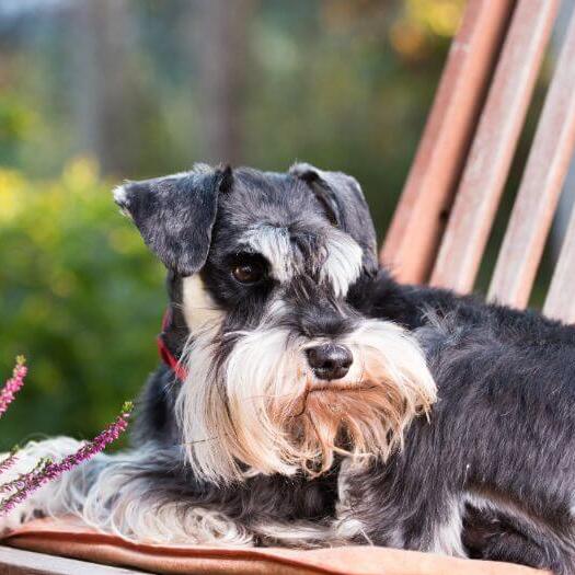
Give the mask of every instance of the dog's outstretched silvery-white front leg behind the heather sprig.
[[(59, 461), (81, 445), (69, 437), (30, 442), (2, 473), (0, 490), (28, 473), (43, 458)], [(162, 490), (162, 479), (165, 481), (174, 467), (174, 460), (156, 445), (113, 456), (100, 453), (31, 493), (0, 517), (0, 533), (41, 517), (73, 516), (88, 527), (140, 543), (253, 544), (251, 533), (227, 517), (221, 505), (186, 493), (184, 485)], [(4, 497), (13, 492), (7, 490)]]

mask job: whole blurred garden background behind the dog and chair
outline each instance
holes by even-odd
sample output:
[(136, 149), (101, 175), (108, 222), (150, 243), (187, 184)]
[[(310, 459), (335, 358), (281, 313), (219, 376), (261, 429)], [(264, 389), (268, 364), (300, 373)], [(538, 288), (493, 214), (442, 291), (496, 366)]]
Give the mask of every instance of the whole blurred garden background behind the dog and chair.
[(0, 377), (18, 354), (31, 368), (0, 449), (90, 436), (157, 365), (163, 269), (114, 185), (195, 161), (306, 160), (361, 182), (382, 239), (463, 7), (0, 0)]

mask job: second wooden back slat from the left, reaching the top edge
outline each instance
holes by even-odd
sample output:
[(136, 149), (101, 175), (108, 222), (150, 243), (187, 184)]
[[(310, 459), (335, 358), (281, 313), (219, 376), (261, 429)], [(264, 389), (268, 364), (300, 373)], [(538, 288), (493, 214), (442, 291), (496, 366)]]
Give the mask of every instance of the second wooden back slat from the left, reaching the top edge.
[(557, 5), (557, 0), (517, 4), (432, 274), (433, 286), (463, 294), (473, 287)]

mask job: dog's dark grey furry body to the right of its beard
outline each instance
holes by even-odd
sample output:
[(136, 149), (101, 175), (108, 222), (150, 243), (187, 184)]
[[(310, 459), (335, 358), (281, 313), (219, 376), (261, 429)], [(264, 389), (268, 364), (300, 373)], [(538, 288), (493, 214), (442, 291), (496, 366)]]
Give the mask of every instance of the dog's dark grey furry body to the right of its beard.
[(575, 330), (447, 291), (377, 284), (391, 309), (378, 296), (372, 309), (418, 331), (439, 401), (429, 424), (411, 426), (403, 452), (354, 482), (370, 538), (386, 544), (401, 532), (403, 547), (425, 547), (446, 502), (476, 492), (530, 520), (467, 505), (473, 556), (573, 573)]

